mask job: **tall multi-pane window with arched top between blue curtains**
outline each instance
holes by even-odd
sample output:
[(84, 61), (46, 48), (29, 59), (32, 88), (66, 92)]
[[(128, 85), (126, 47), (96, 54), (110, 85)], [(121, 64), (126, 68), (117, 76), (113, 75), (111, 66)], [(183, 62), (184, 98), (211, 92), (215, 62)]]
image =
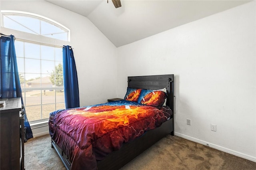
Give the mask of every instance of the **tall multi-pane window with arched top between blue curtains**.
[(50, 112), (65, 109), (62, 45), (63, 41), (69, 41), (70, 31), (49, 18), (28, 12), (1, 11), (1, 18), (6, 32), (15, 32), (18, 72), (28, 121), (48, 121)]

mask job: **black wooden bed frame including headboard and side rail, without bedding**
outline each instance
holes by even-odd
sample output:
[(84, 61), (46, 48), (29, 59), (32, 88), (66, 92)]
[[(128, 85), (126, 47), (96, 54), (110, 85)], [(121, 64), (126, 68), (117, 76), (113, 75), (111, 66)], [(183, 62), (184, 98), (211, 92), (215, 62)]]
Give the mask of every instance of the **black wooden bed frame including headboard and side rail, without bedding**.
[[(124, 143), (120, 150), (116, 150), (110, 153), (104, 160), (98, 161), (98, 170), (118, 170), (167, 134), (174, 135), (174, 75), (128, 77), (128, 87), (151, 90), (166, 88), (168, 94), (166, 105), (172, 109), (172, 117), (164, 122), (161, 127), (149, 130), (143, 136), (140, 136), (131, 142)], [(66, 169), (69, 170), (71, 162), (53, 140), (52, 147), (60, 156)]]

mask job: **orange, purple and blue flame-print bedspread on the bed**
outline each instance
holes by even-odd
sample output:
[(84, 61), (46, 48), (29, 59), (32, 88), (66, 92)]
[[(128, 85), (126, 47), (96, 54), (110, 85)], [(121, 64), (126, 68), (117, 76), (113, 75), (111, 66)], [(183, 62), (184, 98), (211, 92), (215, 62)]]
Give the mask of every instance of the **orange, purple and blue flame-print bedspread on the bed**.
[(172, 115), (168, 107), (126, 100), (50, 113), (52, 139), (72, 161), (72, 170), (96, 170), (96, 160), (120, 149)]

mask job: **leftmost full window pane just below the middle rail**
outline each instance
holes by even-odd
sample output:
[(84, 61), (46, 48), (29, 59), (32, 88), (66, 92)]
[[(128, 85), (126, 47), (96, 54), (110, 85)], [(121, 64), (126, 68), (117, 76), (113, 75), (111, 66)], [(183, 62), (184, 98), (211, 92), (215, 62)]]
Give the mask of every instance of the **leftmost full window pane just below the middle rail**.
[(26, 106), (41, 105), (41, 90), (26, 91)]

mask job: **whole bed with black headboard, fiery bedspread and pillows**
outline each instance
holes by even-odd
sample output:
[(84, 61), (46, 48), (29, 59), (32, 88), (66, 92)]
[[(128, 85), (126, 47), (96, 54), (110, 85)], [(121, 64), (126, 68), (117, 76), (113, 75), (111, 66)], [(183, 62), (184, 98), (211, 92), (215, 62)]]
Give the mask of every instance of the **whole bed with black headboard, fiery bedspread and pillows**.
[[(140, 94), (150, 92), (154, 95), (156, 92), (164, 91), (166, 94), (164, 106), (142, 104), (145, 102), (144, 98), (146, 99), (146, 96), (141, 97), (142, 95), (137, 97), (140, 103), (128, 101), (132, 100), (128, 96), (128, 89), (135, 89), (136, 92), (141, 90)], [(162, 95), (162, 92), (159, 93)], [(49, 131), (52, 148), (56, 150), (66, 169), (117, 170), (167, 134), (174, 135), (173, 74), (128, 77), (124, 99), (50, 113)], [(147, 109), (146, 112), (144, 109)], [(125, 114), (123, 114), (124, 110)], [(133, 111), (128, 113), (130, 110), (138, 110), (140, 113), (134, 116)], [(129, 116), (126, 115), (126, 111)], [(113, 112), (118, 113), (122, 121), (119, 123), (112, 121)], [(98, 115), (104, 118), (99, 120)], [(75, 124), (79, 120), (82, 120), (83, 127)], [(112, 127), (113, 122), (118, 124), (118, 128)], [(89, 128), (89, 124), (92, 127)], [(140, 127), (141, 125), (144, 127)], [(102, 131), (107, 133), (103, 134)], [(107, 144), (110, 146), (105, 146)]]

